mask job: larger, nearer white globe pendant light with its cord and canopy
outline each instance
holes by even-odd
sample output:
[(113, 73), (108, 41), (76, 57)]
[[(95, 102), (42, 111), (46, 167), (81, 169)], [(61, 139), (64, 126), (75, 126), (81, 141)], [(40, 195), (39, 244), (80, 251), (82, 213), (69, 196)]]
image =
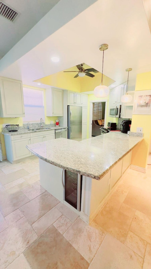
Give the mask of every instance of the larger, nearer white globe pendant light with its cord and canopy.
[[(103, 51), (103, 59), (104, 59), (104, 51), (106, 49), (108, 49), (108, 45), (107, 44), (102, 44), (99, 47), (100, 51)], [(102, 64), (102, 80), (103, 80), (103, 64)], [(101, 82), (101, 84), (99, 86), (96, 86), (94, 89), (94, 95), (95, 97), (106, 97), (107, 95), (109, 95), (109, 87), (103, 85), (103, 83)]]

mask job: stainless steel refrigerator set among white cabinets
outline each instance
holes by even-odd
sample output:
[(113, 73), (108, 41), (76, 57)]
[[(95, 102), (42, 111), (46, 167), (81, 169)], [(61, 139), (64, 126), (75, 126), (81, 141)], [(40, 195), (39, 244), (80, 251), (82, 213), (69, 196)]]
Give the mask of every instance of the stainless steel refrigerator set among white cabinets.
[(68, 139), (82, 140), (82, 107), (68, 105)]

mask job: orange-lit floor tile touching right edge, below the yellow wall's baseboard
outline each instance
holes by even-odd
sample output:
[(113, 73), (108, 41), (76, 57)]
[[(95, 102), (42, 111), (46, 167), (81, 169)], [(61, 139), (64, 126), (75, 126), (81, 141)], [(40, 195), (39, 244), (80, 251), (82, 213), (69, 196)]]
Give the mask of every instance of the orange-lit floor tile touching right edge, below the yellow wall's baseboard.
[(149, 217), (151, 217), (150, 203), (150, 189), (139, 189), (137, 187), (131, 187), (124, 200), (124, 204), (133, 207)]

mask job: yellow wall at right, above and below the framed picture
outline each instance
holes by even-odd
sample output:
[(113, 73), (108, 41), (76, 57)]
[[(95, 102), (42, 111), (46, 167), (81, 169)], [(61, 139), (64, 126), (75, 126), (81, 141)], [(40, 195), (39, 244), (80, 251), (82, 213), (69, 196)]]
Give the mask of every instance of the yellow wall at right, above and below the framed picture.
[[(151, 90), (151, 72), (137, 75), (135, 91), (141, 90)], [(131, 164), (146, 168), (151, 140), (151, 115), (133, 115), (131, 132), (136, 132), (136, 127), (143, 127), (144, 139), (134, 148)]]

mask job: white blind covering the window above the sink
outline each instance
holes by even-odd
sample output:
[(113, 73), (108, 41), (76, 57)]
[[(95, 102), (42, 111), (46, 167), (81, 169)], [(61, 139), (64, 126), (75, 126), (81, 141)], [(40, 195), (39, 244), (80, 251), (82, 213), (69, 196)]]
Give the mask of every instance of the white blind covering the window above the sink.
[(23, 122), (40, 122), (45, 120), (44, 95), (41, 90), (23, 88), (25, 117)]

